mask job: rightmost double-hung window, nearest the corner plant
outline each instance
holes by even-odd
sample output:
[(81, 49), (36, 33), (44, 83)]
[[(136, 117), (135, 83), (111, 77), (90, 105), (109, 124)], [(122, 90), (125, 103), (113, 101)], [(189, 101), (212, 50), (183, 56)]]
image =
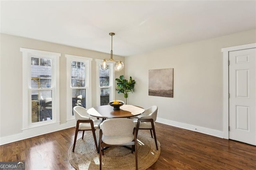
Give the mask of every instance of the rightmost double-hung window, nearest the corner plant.
[(114, 63), (108, 63), (108, 69), (102, 70), (100, 62), (96, 59), (96, 104), (108, 105), (114, 100)]

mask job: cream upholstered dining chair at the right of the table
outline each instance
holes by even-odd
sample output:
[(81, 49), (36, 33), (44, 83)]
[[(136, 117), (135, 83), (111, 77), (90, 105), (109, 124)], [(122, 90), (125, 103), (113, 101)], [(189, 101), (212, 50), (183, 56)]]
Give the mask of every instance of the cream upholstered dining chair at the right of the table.
[(152, 130), (154, 133), (154, 140), (156, 143), (156, 150), (158, 150), (157, 141), (156, 141), (156, 131), (155, 131), (155, 121), (157, 116), (158, 107), (156, 105), (149, 107), (138, 116), (138, 119), (132, 119), (136, 124), (136, 134), (138, 135), (139, 129), (149, 129), (152, 136)]

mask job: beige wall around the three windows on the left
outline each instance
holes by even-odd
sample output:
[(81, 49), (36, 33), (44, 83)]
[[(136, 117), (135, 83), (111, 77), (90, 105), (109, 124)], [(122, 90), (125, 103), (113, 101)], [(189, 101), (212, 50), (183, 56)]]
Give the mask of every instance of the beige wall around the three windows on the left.
[[(60, 57), (60, 124), (66, 123), (66, 57), (65, 54), (91, 57), (92, 60), (92, 106), (96, 105), (96, 61), (95, 59), (110, 58), (107, 53), (43, 42), (1, 34), (1, 65), (0, 65), (0, 137), (22, 133), (22, 53), (20, 47), (61, 53)], [(124, 57), (114, 56), (114, 59)], [(124, 70), (115, 72), (119, 77)], [(117, 94), (117, 93), (116, 93)], [(116, 99), (122, 99), (117, 95)]]

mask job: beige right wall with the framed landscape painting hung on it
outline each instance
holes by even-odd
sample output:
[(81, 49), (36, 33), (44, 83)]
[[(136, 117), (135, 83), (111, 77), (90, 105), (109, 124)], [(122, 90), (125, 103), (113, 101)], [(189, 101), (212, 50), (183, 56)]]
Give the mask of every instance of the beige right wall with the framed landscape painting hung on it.
[[(221, 48), (255, 42), (256, 30), (249, 30), (126, 57), (125, 75), (136, 81), (128, 102), (142, 107), (158, 105), (160, 122), (221, 132)], [(149, 96), (148, 70), (164, 68), (174, 68), (174, 97)]]

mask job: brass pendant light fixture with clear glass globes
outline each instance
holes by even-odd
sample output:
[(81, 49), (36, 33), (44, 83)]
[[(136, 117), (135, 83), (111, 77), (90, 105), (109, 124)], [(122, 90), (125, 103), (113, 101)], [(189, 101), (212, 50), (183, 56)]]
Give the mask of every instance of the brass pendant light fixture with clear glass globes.
[(124, 63), (122, 63), (122, 61), (120, 60), (114, 60), (113, 59), (113, 51), (112, 51), (112, 46), (113, 46), (113, 36), (115, 35), (115, 33), (110, 32), (109, 35), (111, 36), (111, 51), (110, 51), (110, 59), (105, 58), (101, 63), (100, 63), (100, 67), (103, 70), (108, 69), (108, 61), (114, 61), (116, 62), (115, 64), (115, 70), (116, 71), (120, 71), (124, 68)]

